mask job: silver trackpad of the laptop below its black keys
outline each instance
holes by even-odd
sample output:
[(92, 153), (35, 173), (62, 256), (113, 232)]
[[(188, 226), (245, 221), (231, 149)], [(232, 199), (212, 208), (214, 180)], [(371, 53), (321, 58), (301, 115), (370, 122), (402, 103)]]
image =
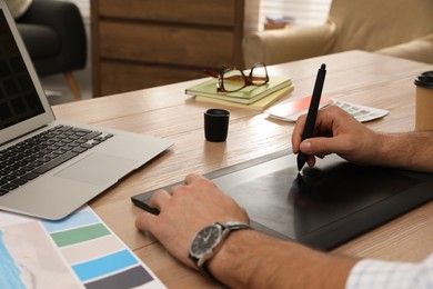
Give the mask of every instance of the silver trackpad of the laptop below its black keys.
[(131, 171), (137, 161), (104, 153), (92, 153), (56, 173), (57, 177), (83, 181), (92, 185), (105, 185), (118, 181)]

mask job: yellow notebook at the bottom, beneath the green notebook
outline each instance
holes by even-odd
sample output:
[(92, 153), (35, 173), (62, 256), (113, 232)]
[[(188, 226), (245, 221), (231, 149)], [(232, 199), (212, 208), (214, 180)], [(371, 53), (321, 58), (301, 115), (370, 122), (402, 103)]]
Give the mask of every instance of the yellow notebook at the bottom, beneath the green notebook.
[(239, 102), (232, 102), (228, 100), (222, 100), (222, 99), (216, 99), (216, 98), (211, 98), (211, 97), (203, 97), (203, 96), (197, 96), (195, 100), (197, 101), (203, 101), (203, 102), (211, 102), (215, 104), (221, 104), (221, 106), (228, 106), (228, 107), (236, 107), (236, 108), (246, 108), (246, 109), (254, 109), (254, 110), (261, 110), (263, 111), (264, 109), (269, 108), (286, 94), (289, 94), (293, 90), (293, 84), (290, 84), (288, 87), (284, 87), (280, 90), (276, 90), (269, 94), (265, 98), (262, 98), (253, 103), (250, 104), (244, 104), (244, 103), (239, 103)]

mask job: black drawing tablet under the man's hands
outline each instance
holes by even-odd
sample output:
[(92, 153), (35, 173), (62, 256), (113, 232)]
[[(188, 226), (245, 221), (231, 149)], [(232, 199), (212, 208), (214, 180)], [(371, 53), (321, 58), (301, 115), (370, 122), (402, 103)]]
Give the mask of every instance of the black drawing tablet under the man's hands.
[[(280, 151), (207, 175), (266, 233), (330, 250), (433, 198), (433, 175), (359, 167), (335, 155), (298, 173)], [(167, 186), (164, 188), (170, 188)], [(132, 197), (141, 206), (153, 191)]]

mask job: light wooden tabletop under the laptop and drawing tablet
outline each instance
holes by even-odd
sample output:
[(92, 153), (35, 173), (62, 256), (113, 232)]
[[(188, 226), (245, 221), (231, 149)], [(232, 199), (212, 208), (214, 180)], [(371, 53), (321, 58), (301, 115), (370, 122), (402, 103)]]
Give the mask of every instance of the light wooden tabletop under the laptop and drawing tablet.
[[(288, 74), (295, 90), (290, 98), (311, 94), (316, 70), (326, 63), (323, 93), (340, 100), (390, 110), (372, 129), (397, 132), (414, 129), (414, 78), (433, 66), (391, 57), (350, 51), (269, 68)], [(261, 157), (291, 146), (293, 123), (266, 119), (255, 110), (232, 109), (226, 142), (211, 143), (203, 136), (203, 112), (184, 89), (201, 80), (157, 87), (53, 107), (61, 119), (95, 123), (167, 138), (175, 144), (90, 202), (110, 228), (169, 288), (218, 286), (180, 265), (151, 236), (134, 228), (141, 212), (130, 197), (183, 180), (189, 172), (215, 169)], [(145, 149), (145, 148), (143, 148)], [(334, 251), (356, 257), (416, 261), (433, 251), (433, 202), (413, 210)]]

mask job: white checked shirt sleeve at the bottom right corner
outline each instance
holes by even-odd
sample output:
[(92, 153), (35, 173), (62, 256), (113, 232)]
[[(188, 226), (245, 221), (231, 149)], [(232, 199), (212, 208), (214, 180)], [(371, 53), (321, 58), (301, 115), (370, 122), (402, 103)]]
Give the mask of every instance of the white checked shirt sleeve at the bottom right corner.
[(433, 253), (419, 263), (361, 260), (352, 268), (346, 289), (361, 288), (433, 288)]

